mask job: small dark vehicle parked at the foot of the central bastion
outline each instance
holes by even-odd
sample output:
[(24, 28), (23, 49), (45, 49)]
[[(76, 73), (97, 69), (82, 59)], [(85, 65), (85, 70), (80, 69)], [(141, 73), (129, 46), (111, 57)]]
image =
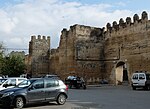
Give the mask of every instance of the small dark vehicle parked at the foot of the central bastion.
[(83, 88), (86, 89), (86, 82), (84, 81), (83, 78), (78, 77), (78, 76), (68, 76), (65, 79), (65, 84), (68, 85), (69, 88)]

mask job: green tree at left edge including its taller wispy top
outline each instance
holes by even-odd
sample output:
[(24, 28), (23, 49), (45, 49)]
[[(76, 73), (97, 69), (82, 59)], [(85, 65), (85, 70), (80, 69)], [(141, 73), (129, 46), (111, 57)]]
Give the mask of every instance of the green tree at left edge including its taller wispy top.
[(12, 76), (19, 76), (25, 71), (24, 58), (20, 55), (4, 55), (4, 47), (0, 44), (0, 74)]

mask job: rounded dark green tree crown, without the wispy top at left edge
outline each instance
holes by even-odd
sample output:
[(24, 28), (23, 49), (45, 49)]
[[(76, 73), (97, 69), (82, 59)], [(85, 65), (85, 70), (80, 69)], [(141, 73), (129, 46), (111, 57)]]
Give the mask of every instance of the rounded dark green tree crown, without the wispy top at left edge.
[(21, 56), (13, 55), (4, 58), (1, 73), (10, 77), (19, 76), (24, 73), (25, 68), (24, 59)]

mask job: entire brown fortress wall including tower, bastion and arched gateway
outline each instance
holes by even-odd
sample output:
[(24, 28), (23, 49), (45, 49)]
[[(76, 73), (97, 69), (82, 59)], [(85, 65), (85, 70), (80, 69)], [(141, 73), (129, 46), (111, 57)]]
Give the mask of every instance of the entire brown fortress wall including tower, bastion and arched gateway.
[[(150, 72), (150, 21), (145, 11), (141, 19), (135, 14), (133, 21), (127, 17), (124, 22), (121, 18), (118, 24), (116, 21), (112, 26), (107, 23), (106, 29), (84, 25), (63, 29), (57, 49), (50, 50), (48, 37), (48, 45), (42, 43), (40, 49), (44, 50), (37, 52), (33, 49), (36, 46), (33, 40), (35, 37), (30, 42), (32, 62), (37, 61), (41, 55), (45, 56), (49, 61), (36, 65), (44, 65), (47, 71), (58, 74), (62, 79), (68, 75), (79, 75), (89, 83), (106, 79), (109, 83), (121, 84), (123, 81), (130, 82), (135, 71)], [(37, 57), (35, 54), (40, 55)], [(32, 67), (33, 64), (35, 62), (31, 63)], [(33, 72), (32, 69), (32, 74), (46, 72), (40, 71), (37, 69)]]

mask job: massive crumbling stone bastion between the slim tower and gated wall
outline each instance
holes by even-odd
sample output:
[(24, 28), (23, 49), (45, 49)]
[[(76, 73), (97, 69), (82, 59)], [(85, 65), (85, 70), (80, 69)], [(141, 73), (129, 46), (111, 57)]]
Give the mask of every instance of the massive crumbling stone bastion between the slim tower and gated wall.
[(68, 75), (79, 75), (95, 80), (97, 75), (95, 81), (99, 81), (102, 64), (99, 60), (102, 58), (100, 54), (103, 49), (102, 31), (100, 28), (83, 25), (71, 26), (70, 30), (63, 29), (59, 48), (51, 56), (51, 63), (57, 61), (57, 67), (54, 71), (54, 65), (51, 64), (50, 71), (63, 79)]

